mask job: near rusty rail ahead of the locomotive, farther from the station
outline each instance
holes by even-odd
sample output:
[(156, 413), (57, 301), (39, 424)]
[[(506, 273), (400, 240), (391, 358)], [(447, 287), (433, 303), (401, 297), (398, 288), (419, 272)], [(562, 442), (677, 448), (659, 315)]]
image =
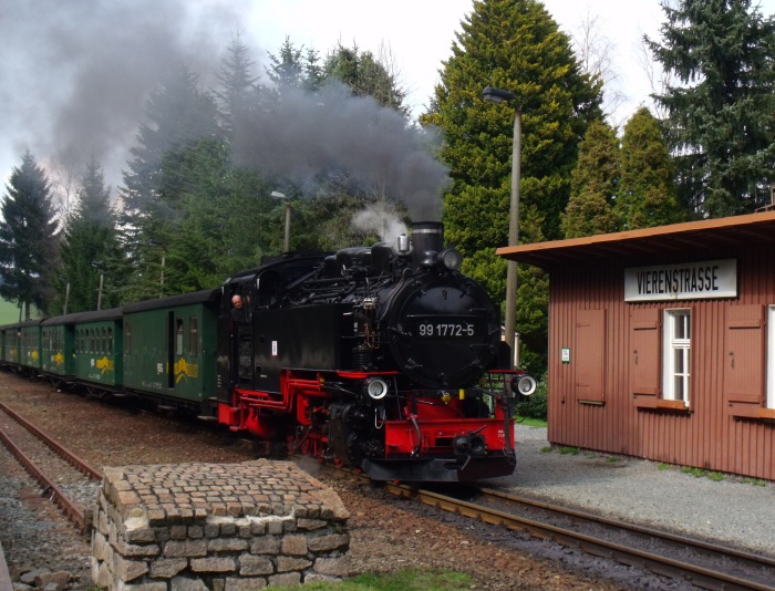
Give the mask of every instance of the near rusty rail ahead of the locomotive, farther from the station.
[(775, 591), (775, 587), (769, 587), (755, 581), (748, 581), (738, 577), (732, 577), (723, 572), (699, 567), (689, 562), (682, 562), (669, 557), (645, 552), (636, 548), (628, 548), (601, 538), (579, 533), (570, 529), (565, 529), (548, 523), (541, 523), (533, 519), (509, 515), (504, 511), (482, 507), (479, 505), (438, 495), (428, 490), (421, 490), (407, 485), (391, 483), (386, 483), (385, 488), (400, 497), (416, 499), (426, 505), (457, 512), (465, 517), (482, 519), (486, 523), (504, 526), (512, 530), (527, 530), (537, 538), (555, 540), (567, 546), (577, 547), (595, 556), (611, 558), (618, 560), (619, 562), (634, 567), (643, 567), (651, 572), (663, 574), (673, 579), (689, 580), (692, 582), (692, 584), (704, 589), (714, 589), (720, 591)]

